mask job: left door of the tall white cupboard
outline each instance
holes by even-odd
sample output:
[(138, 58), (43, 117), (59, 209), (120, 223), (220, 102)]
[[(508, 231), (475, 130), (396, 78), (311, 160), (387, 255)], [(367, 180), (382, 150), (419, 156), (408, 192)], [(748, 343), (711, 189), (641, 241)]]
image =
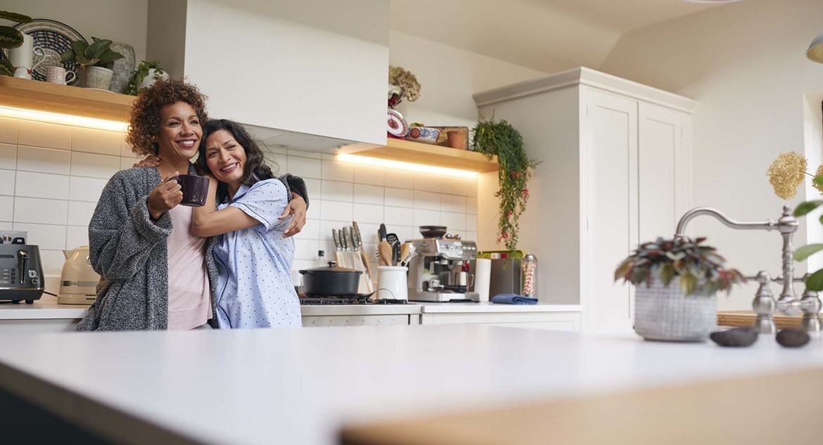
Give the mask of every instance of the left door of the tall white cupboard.
[[(638, 241), (637, 138), (635, 100), (587, 92), (588, 168), (582, 183), (588, 204), (588, 253), (583, 258), (584, 329), (624, 331), (632, 327), (634, 290), (614, 282), (614, 270)], [(587, 289), (588, 287), (588, 289)]]

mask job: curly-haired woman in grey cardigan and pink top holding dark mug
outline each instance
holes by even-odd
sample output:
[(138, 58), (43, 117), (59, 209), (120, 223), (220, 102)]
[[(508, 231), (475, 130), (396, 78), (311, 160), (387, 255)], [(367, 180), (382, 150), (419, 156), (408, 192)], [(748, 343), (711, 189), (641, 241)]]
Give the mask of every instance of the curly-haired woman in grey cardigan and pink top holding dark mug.
[[(157, 81), (137, 96), (127, 141), (137, 155), (159, 160), (154, 167), (119, 171), (103, 189), (89, 223), (89, 259), (100, 282), (78, 331), (216, 324), (216, 239), (191, 233), (192, 207), (179, 206), (183, 193), (170, 180), (198, 174), (189, 160), (198, 152), (201, 123), (208, 118), (206, 99), (183, 81)], [(305, 197), (302, 179), (286, 175), (281, 181), (287, 194), (296, 189)], [(284, 214), (305, 216), (305, 207), (304, 199), (294, 199)]]

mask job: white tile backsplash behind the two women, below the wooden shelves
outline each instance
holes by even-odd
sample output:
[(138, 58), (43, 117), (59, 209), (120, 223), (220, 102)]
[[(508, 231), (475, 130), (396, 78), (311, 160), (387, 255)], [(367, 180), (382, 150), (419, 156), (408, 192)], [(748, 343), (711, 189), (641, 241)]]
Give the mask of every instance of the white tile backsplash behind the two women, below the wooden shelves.
[[(124, 139), (119, 132), (0, 118), (0, 228), (28, 231), (30, 242), (40, 245), (47, 274), (59, 276), (63, 248), (88, 243), (100, 192), (112, 174), (137, 160)], [(475, 179), (354, 165), (295, 150), (267, 156), (277, 160), (280, 174), (300, 176), (309, 188), (309, 219), (295, 236), (295, 269), (316, 267), (318, 250), (334, 259), (332, 228), (352, 220), (360, 225), (375, 271), (380, 223), (402, 241), (420, 239), (418, 225), (437, 224), (477, 238)]]

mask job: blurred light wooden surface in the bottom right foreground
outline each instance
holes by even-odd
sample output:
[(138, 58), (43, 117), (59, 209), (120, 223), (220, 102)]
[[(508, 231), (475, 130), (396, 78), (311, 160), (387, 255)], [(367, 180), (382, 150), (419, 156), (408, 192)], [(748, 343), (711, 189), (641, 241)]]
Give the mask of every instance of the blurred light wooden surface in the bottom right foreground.
[[(798, 391), (799, 390), (799, 391)], [(793, 394), (792, 409), (774, 401)], [(344, 445), (783, 443), (823, 416), (823, 368), (349, 425)], [(793, 442), (817, 443), (814, 428)]]

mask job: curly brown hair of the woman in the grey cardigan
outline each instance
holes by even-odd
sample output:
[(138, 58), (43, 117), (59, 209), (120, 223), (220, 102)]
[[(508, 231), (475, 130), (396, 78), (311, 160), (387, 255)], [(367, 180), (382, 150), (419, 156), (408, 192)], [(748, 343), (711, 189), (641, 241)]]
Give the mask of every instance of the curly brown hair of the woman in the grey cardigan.
[(140, 91), (132, 104), (128, 118), (126, 142), (138, 156), (157, 154), (157, 135), (160, 133), (160, 109), (175, 102), (192, 106), (201, 123), (208, 119), (206, 100), (197, 86), (184, 81), (159, 79), (151, 88)]

